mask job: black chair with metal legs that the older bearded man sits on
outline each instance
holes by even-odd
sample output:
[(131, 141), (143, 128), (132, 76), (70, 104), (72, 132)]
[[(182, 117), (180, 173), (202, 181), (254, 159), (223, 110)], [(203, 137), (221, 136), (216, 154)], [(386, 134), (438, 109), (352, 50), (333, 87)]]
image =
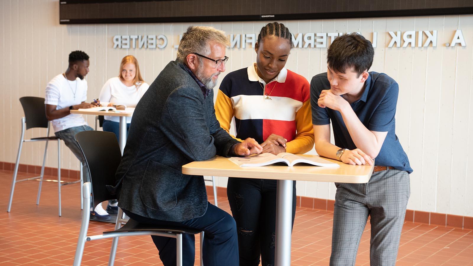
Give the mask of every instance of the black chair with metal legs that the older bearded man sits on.
[[(103, 131), (83, 131), (76, 134), (76, 140), (86, 158), (86, 163), (90, 171), (90, 182), (84, 183), (83, 198), (84, 206), (89, 206), (90, 201), (100, 204), (103, 201), (116, 199), (106, 189), (106, 185), (115, 184), (115, 172), (120, 164), (121, 152), (117, 138), (114, 133)], [(92, 194), (92, 198), (91, 195)], [(158, 227), (155, 225), (141, 224), (132, 219), (123, 219), (123, 211), (118, 208), (117, 221), (114, 231), (106, 231), (101, 235), (87, 236), (90, 212), (82, 212), (82, 223), (80, 226), (79, 240), (77, 243), (74, 266), (79, 266), (84, 252), (86, 241), (114, 238), (108, 265), (114, 265), (118, 237), (156, 235), (176, 239), (176, 259), (177, 265), (182, 266), (182, 234), (197, 234), (198, 230), (181, 227)], [(125, 223), (123, 227), (122, 224)], [(201, 239), (202, 240), (202, 239)]]

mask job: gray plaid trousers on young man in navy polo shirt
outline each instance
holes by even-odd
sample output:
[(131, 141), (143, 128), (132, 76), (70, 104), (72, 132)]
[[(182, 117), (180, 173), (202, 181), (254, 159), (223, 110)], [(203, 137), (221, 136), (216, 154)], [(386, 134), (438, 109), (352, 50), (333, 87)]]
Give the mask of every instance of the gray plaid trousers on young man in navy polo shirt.
[(407, 201), (409, 174), (387, 169), (366, 184), (335, 183), (330, 265), (354, 266), (359, 241), (371, 216), (370, 264), (395, 265)]

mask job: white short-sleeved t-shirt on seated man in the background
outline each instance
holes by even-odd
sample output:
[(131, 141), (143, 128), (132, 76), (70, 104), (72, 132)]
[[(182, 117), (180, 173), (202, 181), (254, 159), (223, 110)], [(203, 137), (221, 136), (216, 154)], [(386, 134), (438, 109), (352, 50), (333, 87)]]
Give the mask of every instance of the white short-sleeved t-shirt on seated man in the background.
[[(55, 105), (56, 110), (78, 105), (85, 100), (87, 100), (87, 80), (76, 78), (70, 81), (59, 74), (46, 85), (44, 104)], [(51, 122), (54, 132), (87, 124), (84, 117), (79, 114), (69, 114)]]

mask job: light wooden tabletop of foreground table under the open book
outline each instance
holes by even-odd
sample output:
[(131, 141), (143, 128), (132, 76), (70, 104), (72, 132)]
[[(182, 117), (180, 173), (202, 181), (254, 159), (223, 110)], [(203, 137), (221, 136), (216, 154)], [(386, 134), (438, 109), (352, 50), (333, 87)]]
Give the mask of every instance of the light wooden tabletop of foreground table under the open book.
[[(303, 156), (310, 157), (317, 155)], [(216, 156), (210, 160), (188, 163), (182, 167), (182, 172), (186, 175), (198, 176), (247, 177), (339, 183), (367, 183), (371, 177), (371, 173), (373, 173), (374, 166), (348, 165), (337, 160), (326, 160), (337, 163), (340, 167), (320, 167), (307, 164), (297, 164), (293, 167), (280, 164), (260, 167), (240, 167), (228, 160), (228, 158)]]

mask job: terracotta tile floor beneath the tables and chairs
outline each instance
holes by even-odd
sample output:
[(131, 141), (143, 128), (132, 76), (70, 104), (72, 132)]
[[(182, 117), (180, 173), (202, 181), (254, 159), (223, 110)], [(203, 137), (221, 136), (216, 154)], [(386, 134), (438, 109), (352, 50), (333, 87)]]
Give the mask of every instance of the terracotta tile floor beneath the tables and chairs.
[[(57, 216), (57, 186), (45, 183), (36, 206), (38, 183), (18, 183), (11, 213), (7, 200), (11, 171), (0, 170), (0, 265), (72, 265), (80, 228), (79, 184), (62, 187), (62, 217)], [(19, 178), (31, 177), (19, 174)], [(210, 197), (213, 199), (213, 197)], [(229, 211), (226, 197), (219, 206)], [(292, 234), (292, 265), (328, 265), (333, 213), (298, 208)], [(113, 229), (112, 223), (90, 222), (89, 233)], [(369, 223), (361, 239), (356, 265), (369, 265)], [(82, 265), (106, 265), (111, 239), (86, 243)], [(196, 239), (196, 260), (199, 261)], [(122, 238), (115, 265), (162, 265), (149, 237)], [(222, 262), (222, 266), (225, 262)], [(473, 232), (406, 222), (397, 265), (472, 265)]]

